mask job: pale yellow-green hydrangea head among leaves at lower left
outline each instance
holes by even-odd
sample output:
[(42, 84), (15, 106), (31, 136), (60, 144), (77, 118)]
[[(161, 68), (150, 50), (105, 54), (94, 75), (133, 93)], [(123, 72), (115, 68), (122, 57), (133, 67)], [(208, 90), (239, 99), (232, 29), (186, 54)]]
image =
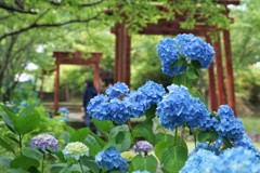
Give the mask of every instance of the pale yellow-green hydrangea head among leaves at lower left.
[(65, 158), (73, 158), (75, 160), (79, 160), (80, 157), (89, 156), (89, 147), (87, 147), (83, 143), (80, 142), (68, 143), (63, 149), (63, 155)]

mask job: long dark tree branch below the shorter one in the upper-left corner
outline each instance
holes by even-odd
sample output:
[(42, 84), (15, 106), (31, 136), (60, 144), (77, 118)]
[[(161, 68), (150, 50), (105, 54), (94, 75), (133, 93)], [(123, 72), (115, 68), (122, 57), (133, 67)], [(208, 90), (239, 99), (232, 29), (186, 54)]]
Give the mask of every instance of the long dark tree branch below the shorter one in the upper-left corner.
[(28, 31), (30, 29), (34, 28), (42, 28), (42, 27), (60, 27), (60, 26), (64, 26), (64, 25), (68, 25), (68, 24), (74, 24), (74, 23), (88, 23), (92, 19), (96, 19), (100, 16), (100, 14), (91, 17), (91, 18), (86, 18), (86, 19), (70, 19), (70, 21), (66, 21), (66, 22), (61, 22), (61, 23), (55, 23), (55, 24), (37, 24), (36, 22), (34, 22), (32, 24), (30, 24), (29, 26), (26, 26), (24, 28), (17, 29), (17, 30), (13, 30), (10, 31), (8, 34), (4, 34), (0, 37), (0, 41), (5, 39), (6, 37), (10, 36), (14, 36), (14, 35), (18, 35), (25, 31)]

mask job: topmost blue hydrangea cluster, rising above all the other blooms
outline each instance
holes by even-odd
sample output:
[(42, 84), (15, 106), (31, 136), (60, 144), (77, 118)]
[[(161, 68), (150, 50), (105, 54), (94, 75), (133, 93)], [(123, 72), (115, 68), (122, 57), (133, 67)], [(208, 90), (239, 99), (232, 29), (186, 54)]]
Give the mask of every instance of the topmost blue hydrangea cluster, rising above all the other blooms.
[(177, 65), (183, 58), (186, 63), (197, 61), (203, 68), (208, 68), (214, 57), (213, 48), (194, 35), (178, 35), (176, 39), (166, 38), (157, 45), (161, 70), (168, 76), (182, 74), (184, 65)]

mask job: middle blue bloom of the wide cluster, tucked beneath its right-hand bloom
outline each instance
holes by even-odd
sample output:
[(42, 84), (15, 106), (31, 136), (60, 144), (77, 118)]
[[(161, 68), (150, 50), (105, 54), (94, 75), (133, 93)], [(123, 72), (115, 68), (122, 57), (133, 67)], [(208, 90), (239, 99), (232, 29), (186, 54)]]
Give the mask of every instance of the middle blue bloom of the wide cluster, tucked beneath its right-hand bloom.
[(144, 115), (145, 110), (147, 110), (151, 106), (148, 103), (146, 95), (144, 95), (140, 91), (131, 91), (130, 94), (125, 97), (130, 104), (130, 115), (139, 118)]

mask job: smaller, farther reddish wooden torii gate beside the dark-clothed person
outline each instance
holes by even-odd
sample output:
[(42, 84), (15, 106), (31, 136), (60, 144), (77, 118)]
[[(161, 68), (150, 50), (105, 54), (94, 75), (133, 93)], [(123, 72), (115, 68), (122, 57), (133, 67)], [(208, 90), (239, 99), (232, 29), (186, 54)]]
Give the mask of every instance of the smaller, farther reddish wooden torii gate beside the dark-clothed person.
[(69, 64), (69, 65), (87, 65), (93, 67), (94, 72), (94, 86), (100, 92), (100, 61), (102, 53), (94, 52), (90, 53), (90, 58), (83, 58), (80, 52), (65, 52), (65, 51), (55, 51), (53, 56), (55, 57), (55, 83), (54, 83), (54, 112), (58, 109), (58, 97), (60, 97), (60, 65)]

